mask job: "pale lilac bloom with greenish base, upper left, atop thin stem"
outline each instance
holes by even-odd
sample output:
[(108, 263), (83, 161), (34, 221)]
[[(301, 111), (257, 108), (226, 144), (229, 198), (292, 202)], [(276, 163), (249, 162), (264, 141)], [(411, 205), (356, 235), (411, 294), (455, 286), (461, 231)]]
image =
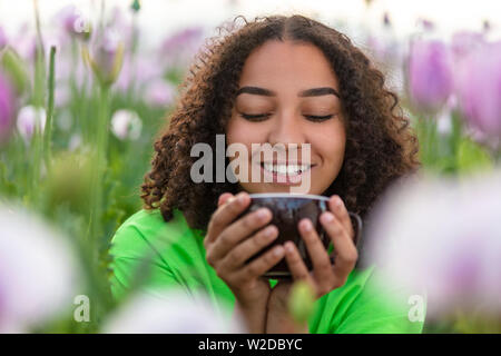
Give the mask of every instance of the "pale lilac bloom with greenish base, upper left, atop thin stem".
[(124, 61), (124, 43), (112, 29), (99, 33), (89, 50), (84, 47), (84, 59), (92, 69), (101, 86), (112, 85)]

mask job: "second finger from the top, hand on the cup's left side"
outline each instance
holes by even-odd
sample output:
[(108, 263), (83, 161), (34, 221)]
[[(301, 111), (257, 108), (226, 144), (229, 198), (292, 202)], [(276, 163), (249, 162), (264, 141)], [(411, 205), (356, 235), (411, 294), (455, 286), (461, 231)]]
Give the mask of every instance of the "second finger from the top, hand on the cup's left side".
[(218, 260), (224, 258), (244, 238), (253, 235), (272, 220), (272, 211), (268, 208), (259, 208), (246, 214), (229, 225), (213, 243), (210, 258)]

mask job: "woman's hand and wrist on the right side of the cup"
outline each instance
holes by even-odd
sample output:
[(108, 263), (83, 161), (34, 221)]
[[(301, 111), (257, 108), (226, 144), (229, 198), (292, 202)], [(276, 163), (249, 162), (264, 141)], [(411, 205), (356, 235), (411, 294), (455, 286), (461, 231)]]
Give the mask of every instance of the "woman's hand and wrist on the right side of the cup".
[[(331, 211), (323, 212), (320, 220), (334, 245), (336, 253), (334, 266), (331, 265), (330, 256), (308, 219), (301, 220), (298, 228), (312, 260), (313, 270), (307, 269), (294, 243), (285, 244), (285, 259), (294, 280), (306, 281), (313, 288), (316, 298), (342, 287), (358, 258), (354, 244), (354, 230), (343, 201), (338, 196), (332, 196), (328, 207)], [(286, 281), (281, 281), (273, 288), (268, 301), (267, 333), (279, 333), (281, 325), (287, 324), (284, 320), (291, 318), (287, 310), (289, 289), (291, 283)], [(296, 327), (297, 332), (307, 330), (307, 326), (304, 325)]]

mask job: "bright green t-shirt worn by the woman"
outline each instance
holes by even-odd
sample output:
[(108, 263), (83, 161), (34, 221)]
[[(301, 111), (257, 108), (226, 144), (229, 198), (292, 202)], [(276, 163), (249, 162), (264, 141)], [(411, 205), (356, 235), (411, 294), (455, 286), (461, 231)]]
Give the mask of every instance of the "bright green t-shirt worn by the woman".
[[(166, 222), (160, 211), (139, 210), (116, 231), (110, 254), (115, 298), (134, 286), (156, 293), (180, 288), (187, 297), (204, 295), (217, 313), (230, 315), (235, 297), (205, 259), (204, 233), (191, 229), (181, 211)], [(315, 301), (310, 333), (422, 333), (423, 322), (411, 322), (409, 293), (387, 290), (376, 283), (375, 268), (353, 270), (343, 287)], [(269, 280), (273, 287), (276, 280)]]

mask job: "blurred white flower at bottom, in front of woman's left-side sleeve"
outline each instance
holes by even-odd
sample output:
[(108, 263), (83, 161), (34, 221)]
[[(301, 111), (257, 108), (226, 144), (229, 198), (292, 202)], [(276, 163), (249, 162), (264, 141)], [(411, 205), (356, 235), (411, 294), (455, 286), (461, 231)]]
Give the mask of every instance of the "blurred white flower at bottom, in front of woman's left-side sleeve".
[(105, 323), (112, 334), (239, 334), (245, 333), (239, 317), (219, 315), (207, 297), (196, 301), (178, 290), (138, 294), (126, 301)]

